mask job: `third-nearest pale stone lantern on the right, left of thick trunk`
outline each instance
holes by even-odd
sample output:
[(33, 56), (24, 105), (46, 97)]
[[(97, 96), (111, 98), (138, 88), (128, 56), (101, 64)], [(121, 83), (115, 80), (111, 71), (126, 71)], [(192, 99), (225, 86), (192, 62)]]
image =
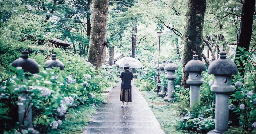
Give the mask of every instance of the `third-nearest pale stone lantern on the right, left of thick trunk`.
[(168, 80), (167, 96), (164, 97), (164, 101), (167, 102), (174, 98), (172, 91), (174, 91), (174, 79), (176, 78), (175, 70), (178, 70), (178, 67), (170, 60), (169, 63), (165, 65), (164, 70), (167, 71), (165, 78)]

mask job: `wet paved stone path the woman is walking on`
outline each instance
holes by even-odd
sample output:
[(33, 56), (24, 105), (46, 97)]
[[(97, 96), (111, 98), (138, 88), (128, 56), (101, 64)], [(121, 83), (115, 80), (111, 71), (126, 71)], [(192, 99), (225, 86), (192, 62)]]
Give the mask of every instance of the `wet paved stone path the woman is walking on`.
[(121, 108), (120, 85), (117, 83), (82, 134), (164, 134), (159, 122), (132, 81), (132, 102)]

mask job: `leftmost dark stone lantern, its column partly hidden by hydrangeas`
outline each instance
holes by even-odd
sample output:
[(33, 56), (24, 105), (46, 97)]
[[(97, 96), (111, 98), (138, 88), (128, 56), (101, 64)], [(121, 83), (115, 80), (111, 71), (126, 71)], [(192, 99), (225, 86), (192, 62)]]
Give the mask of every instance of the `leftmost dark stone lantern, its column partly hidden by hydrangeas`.
[[(32, 74), (39, 73), (39, 66), (34, 59), (28, 58), (28, 51), (21, 52), (21, 58), (16, 59), (11, 65), (13, 67), (22, 67), (24, 72), (30, 72)], [(25, 75), (28, 79), (28, 75)], [(19, 126), (25, 125), (25, 128), (33, 128), (32, 121), (32, 100), (27, 100), (29, 91), (23, 90), (18, 94), (18, 114), (19, 114)]]

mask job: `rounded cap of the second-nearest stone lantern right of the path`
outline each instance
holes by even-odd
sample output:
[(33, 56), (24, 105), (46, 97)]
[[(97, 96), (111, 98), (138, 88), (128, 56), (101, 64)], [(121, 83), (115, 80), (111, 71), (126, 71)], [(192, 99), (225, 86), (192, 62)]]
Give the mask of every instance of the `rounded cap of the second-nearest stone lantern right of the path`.
[(202, 72), (206, 70), (204, 63), (201, 60), (198, 60), (198, 55), (193, 55), (193, 59), (188, 61), (184, 67), (185, 71), (189, 72)]

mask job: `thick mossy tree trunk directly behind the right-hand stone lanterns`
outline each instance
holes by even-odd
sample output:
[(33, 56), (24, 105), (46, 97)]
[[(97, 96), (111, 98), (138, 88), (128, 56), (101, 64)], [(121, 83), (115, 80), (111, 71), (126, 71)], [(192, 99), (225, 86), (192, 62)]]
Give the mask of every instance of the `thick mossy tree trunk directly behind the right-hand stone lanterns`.
[(192, 60), (194, 54), (197, 54), (199, 60), (202, 60), (205, 9), (206, 0), (188, 0), (182, 60), (182, 87), (187, 87), (188, 72), (184, 71), (185, 65)]

